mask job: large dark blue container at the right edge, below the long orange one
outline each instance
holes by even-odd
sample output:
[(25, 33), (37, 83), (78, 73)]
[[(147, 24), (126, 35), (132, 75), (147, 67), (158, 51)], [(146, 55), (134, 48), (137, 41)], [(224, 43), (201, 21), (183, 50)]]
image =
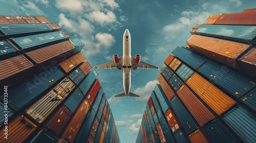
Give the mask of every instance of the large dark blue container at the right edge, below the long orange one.
[(226, 65), (212, 61), (205, 62), (199, 72), (206, 76), (211, 84), (217, 84), (228, 91), (233, 97), (241, 98), (256, 86), (256, 82), (230, 70)]

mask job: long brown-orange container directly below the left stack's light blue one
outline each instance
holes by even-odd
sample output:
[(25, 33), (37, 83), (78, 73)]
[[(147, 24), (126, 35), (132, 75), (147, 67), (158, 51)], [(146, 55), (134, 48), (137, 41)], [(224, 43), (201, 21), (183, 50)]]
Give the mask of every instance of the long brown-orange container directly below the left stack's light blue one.
[(37, 64), (35, 73), (39, 73), (46, 67), (54, 66), (71, 56), (74, 49), (71, 42), (64, 41), (27, 52), (24, 55)]

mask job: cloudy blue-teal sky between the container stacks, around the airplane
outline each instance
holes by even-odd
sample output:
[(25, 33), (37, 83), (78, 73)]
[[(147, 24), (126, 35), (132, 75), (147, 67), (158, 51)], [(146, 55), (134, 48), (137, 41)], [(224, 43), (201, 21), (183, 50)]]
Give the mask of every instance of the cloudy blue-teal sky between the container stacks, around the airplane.
[[(82, 54), (93, 67), (122, 56), (122, 36), (131, 34), (131, 55), (160, 67), (177, 47), (186, 46), (189, 31), (210, 14), (241, 12), (256, 6), (251, 0), (0, 0), (0, 15), (43, 15), (56, 22), (71, 38), (83, 43)], [(122, 71), (97, 69), (114, 115), (121, 142), (135, 142), (148, 97), (159, 70), (132, 70), (131, 92), (140, 98), (114, 98), (123, 92)]]

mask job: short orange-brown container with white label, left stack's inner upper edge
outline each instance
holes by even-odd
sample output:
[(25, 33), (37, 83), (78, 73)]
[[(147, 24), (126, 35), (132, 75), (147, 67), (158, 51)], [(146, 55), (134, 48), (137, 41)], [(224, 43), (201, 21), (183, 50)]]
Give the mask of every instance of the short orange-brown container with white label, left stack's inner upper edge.
[(59, 63), (59, 66), (66, 72), (69, 73), (71, 69), (76, 67), (82, 61), (86, 60), (86, 57), (83, 56), (81, 52), (75, 54), (74, 56), (62, 61)]

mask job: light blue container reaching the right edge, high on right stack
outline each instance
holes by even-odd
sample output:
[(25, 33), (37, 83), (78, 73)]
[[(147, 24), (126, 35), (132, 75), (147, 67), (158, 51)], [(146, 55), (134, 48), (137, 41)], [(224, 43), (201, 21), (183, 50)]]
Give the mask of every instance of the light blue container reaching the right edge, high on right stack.
[(230, 38), (241, 39), (247, 41), (254, 41), (256, 26), (245, 26), (245, 25), (201, 25), (197, 31), (197, 35), (212, 36), (212, 37), (223, 37), (226, 40)]

